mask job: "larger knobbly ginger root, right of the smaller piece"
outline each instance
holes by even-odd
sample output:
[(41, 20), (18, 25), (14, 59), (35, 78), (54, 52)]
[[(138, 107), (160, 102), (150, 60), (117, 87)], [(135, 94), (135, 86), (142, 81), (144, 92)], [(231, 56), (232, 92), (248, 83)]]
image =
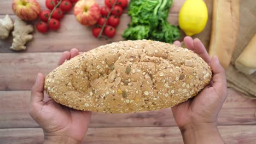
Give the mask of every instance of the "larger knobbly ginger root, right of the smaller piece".
[(25, 44), (27, 41), (31, 40), (33, 36), (29, 33), (33, 32), (33, 26), (27, 25), (25, 21), (16, 19), (14, 22), (14, 31), (13, 31), (13, 44), (10, 49), (19, 51), (26, 50)]

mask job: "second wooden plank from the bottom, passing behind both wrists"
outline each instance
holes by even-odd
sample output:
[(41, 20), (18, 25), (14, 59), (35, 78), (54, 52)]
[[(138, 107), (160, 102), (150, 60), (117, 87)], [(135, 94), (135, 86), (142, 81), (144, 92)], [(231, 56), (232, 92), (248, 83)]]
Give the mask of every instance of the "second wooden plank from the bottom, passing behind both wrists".
[[(228, 89), (219, 125), (256, 124), (256, 100)], [(30, 91), (0, 91), (0, 128), (31, 128), (38, 124), (28, 115)], [(94, 113), (90, 127), (157, 127), (176, 125), (171, 109), (129, 114)]]

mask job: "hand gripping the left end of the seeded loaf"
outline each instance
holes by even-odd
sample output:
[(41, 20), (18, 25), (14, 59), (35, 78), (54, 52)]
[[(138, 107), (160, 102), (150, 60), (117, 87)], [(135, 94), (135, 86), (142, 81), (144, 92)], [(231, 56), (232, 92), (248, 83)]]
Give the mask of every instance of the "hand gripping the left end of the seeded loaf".
[[(61, 65), (79, 55), (77, 49), (62, 53)], [(46, 96), (46, 95), (45, 95)], [(31, 89), (30, 115), (44, 131), (44, 143), (82, 142), (91, 119), (90, 111), (79, 111), (57, 104), (53, 99), (44, 98), (44, 75), (38, 74)]]

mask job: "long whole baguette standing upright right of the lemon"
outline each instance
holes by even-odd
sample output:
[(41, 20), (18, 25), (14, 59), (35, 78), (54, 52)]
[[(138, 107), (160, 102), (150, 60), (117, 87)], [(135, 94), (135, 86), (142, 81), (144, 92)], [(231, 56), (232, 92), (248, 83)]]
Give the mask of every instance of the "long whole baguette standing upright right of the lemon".
[(210, 56), (217, 55), (220, 64), (228, 69), (236, 46), (239, 30), (240, 0), (213, 1)]

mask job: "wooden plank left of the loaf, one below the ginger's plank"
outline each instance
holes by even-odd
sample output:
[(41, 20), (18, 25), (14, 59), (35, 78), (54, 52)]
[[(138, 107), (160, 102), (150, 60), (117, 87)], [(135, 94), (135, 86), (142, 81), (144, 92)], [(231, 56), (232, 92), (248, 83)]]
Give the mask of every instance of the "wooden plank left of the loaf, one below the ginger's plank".
[(57, 67), (61, 53), (0, 53), (0, 90), (31, 89), (37, 73)]

